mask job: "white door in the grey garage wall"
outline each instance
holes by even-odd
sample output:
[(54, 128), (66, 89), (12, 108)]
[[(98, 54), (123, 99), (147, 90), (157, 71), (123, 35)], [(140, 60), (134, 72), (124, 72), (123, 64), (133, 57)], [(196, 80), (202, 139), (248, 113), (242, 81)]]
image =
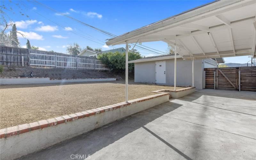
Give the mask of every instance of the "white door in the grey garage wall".
[(156, 83), (166, 83), (165, 78), (165, 60), (156, 61)]

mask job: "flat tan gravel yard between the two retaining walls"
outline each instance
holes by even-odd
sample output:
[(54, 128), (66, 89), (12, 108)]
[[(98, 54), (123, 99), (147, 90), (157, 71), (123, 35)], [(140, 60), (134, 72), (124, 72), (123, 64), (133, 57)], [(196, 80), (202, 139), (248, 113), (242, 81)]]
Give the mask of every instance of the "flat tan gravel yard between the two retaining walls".
[[(129, 82), (129, 100), (170, 86)], [(180, 88), (177, 88), (180, 89)], [(0, 128), (68, 115), (125, 101), (124, 81), (4, 85), (0, 89)]]

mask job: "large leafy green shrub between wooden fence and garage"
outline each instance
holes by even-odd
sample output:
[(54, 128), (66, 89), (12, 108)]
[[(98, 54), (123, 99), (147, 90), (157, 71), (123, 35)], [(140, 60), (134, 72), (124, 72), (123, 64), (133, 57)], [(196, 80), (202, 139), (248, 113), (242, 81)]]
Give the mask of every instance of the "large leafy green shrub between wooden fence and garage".
[[(140, 58), (142, 58), (142, 56), (137, 50), (132, 50), (128, 52), (128, 60), (137, 60)], [(125, 70), (125, 53), (103, 53), (99, 55), (98, 59), (102, 60), (103, 64), (108, 65), (108, 67), (115, 72), (124, 72)], [(134, 72), (133, 63), (128, 64), (128, 70), (129, 72)]]

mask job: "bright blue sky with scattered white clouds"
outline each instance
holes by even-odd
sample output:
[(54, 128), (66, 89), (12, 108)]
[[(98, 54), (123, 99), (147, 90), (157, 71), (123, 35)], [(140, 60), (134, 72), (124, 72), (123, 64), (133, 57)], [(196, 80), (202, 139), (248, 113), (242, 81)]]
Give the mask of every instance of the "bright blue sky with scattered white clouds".
[[(38, 2), (114, 35), (121, 35), (211, 1)], [(92, 48), (102, 48), (103, 50), (113, 49), (112, 46), (104, 45), (105, 40), (111, 37), (81, 25), (65, 16), (58, 15), (56, 12), (40, 4), (31, 1), (1, 1), (1, 4), (13, 8), (16, 13), (8, 12), (8, 15), (16, 22), (17, 30), (27, 35), (31, 45), (38, 46), (41, 50), (66, 53), (66, 46), (74, 42), (82, 47), (89, 45)], [(29, 18), (20, 15), (18, 12), (20, 9)], [(72, 33), (70, 30), (81, 36)], [(26, 45), (26, 39), (20, 37), (19, 40), (21, 46)], [(143, 43), (143, 45), (163, 52), (166, 52), (167, 49), (167, 44), (163, 42)], [(114, 47), (125, 46), (116, 45)], [(144, 56), (158, 55), (150, 51), (138, 50)], [(249, 60), (248, 56), (225, 58), (225, 61), (234, 63), (246, 63)]]

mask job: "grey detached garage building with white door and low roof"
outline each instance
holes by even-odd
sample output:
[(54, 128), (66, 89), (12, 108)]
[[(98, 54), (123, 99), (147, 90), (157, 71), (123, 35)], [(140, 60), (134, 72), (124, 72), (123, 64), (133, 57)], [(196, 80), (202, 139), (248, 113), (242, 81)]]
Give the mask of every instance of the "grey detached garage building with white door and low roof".
[[(174, 85), (174, 56), (161, 55), (129, 61), (134, 63), (134, 82)], [(204, 88), (204, 68), (215, 68), (223, 58), (194, 61), (195, 86)], [(192, 61), (177, 56), (177, 86), (192, 86)]]

